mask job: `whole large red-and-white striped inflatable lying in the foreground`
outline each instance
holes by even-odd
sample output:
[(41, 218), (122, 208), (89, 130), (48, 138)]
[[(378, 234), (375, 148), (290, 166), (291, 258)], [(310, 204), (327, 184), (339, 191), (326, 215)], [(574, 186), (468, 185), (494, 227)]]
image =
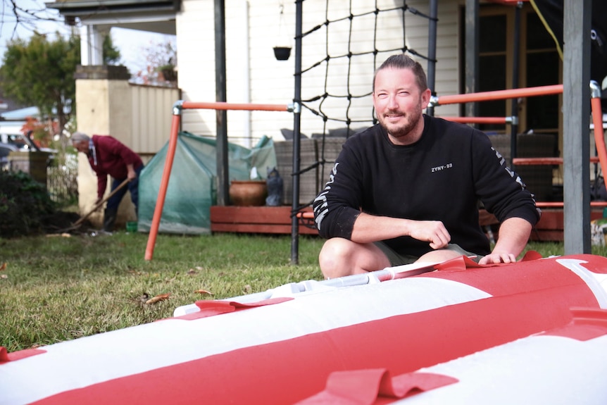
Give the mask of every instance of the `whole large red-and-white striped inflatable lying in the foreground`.
[[(572, 323), (572, 309), (595, 320)], [(607, 382), (605, 309), (607, 258), (593, 255), (500, 266), (461, 257), (292, 283), (0, 351), (0, 404), (338, 404), (327, 380), (361, 400), (342, 404), (512, 404), (520, 393), (533, 404), (607, 404), (607, 384), (595, 383)], [(412, 388), (364, 402), (365, 381)], [(550, 387), (556, 394), (536, 395)]]

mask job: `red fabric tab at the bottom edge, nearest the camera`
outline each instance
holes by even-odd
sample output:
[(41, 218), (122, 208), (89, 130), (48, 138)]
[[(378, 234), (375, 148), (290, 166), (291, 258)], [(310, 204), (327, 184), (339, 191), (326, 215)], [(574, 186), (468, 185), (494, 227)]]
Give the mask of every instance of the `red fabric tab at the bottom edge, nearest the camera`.
[(402, 399), (458, 382), (456, 378), (432, 373), (406, 373), (394, 378), (385, 368), (336, 371), (329, 375), (327, 387), (299, 405), (373, 405), (386, 399)]

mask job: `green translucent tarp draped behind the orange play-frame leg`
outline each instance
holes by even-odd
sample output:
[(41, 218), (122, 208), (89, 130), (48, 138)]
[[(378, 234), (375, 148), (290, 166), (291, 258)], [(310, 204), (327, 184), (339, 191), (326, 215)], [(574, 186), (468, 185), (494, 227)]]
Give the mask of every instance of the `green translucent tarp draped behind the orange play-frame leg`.
[[(149, 232), (151, 228), (167, 151), (168, 143), (149, 161), (139, 177), (139, 232)], [(211, 206), (217, 200), (216, 156), (215, 139), (179, 133), (159, 232), (211, 233)], [(253, 168), (265, 178), (268, 168), (276, 166), (273, 140), (263, 137), (252, 149), (228, 144), (228, 161), (230, 180), (248, 180)]]

